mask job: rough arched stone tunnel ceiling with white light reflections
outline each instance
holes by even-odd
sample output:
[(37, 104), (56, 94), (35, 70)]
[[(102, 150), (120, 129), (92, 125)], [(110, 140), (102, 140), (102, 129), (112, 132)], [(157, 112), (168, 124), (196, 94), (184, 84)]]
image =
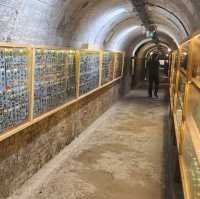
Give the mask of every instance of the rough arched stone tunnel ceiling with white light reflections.
[[(161, 40), (169, 45), (200, 26), (198, 0), (147, 3)], [(142, 24), (130, 0), (0, 0), (0, 38), (5, 41), (124, 50), (145, 39)]]

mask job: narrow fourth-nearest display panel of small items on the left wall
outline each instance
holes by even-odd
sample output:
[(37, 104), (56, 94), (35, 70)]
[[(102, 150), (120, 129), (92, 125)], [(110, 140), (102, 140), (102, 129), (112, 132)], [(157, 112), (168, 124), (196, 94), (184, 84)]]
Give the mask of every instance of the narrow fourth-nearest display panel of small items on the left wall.
[(101, 80), (102, 85), (113, 80), (114, 62), (115, 62), (114, 53), (105, 51), (103, 53), (103, 63), (102, 63), (102, 80)]

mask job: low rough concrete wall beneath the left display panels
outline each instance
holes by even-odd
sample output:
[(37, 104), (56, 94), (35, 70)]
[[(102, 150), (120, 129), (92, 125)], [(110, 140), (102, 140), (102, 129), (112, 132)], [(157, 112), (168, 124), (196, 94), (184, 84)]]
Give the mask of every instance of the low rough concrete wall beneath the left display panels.
[(120, 82), (103, 88), (0, 143), (0, 199), (9, 196), (107, 111)]

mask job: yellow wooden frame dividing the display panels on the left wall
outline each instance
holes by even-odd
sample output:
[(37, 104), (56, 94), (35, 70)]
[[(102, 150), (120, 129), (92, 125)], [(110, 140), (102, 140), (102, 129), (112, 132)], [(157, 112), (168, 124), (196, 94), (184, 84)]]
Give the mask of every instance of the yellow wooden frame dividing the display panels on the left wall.
[[(29, 56), (30, 56), (30, 63), (29, 63), (29, 76), (30, 76), (30, 79), (29, 79), (29, 89), (30, 89), (30, 93), (29, 93), (29, 99), (30, 99), (30, 104), (29, 104), (29, 117), (28, 117), (28, 120), (23, 122), (22, 124), (19, 124), (17, 125), (16, 127), (13, 127), (11, 129), (6, 129), (5, 131), (1, 132), (0, 133), (0, 142), (17, 134), (17, 133), (20, 133), (22, 132), (24, 129), (32, 126), (33, 124), (65, 109), (66, 107), (74, 104), (74, 103), (77, 103), (78, 101), (80, 101), (81, 99), (83, 98), (86, 98), (87, 96), (105, 88), (105, 87), (108, 87), (109, 85), (112, 85), (114, 84), (115, 82), (119, 81), (120, 79), (122, 79), (123, 77), (123, 71), (124, 71), (124, 56), (125, 56), (125, 53), (124, 52), (120, 52), (120, 51), (109, 51), (109, 52), (112, 52), (112, 53), (115, 53), (115, 55), (117, 53), (121, 53), (123, 56), (123, 60), (122, 60), (122, 73), (121, 73), (121, 76), (118, 77), (118, 78), (114, 78), (113, 77), (113, 80), (104, 84), (104, 85), (101, 85), (101, 69), (102, 69), (102, 53), (103, 53), (103, 50), (99, 50), (99, 49), (74, 49), (74, 48), (65, 48), (65, 47), (58, 47), (58, 46), (45, 46), (45, 45), (21, 45), (21, 44), (15, 44), (15, 43), (0, 43), (0, 47), (2, 48), (26, 48), (29, 52)], [(69, 50), (73, 50), (75, 51), (75, 56), (76, 56), (76, 97), (75, 99), (71, 100), (71, 101), (68, 101), (62, 105), (59, 105), (58, 107), (34, 118), (33, 117), (33, 108), (34, 108), (34, 72), (35, 72), (35, 50), (36, 49), (44, 49), (44, 50), (63, 50), (63, 51), (69, 51)], [(100, 54), (100, 63), (99, 63), (99, 85), (96, 89), (80, 96), (79, 95), (79, 88), (80, 88), (80, 52), (81, 51), (85, 51), (85, 52), (98, 52)], [(115, 67), (115, 64), (114, 64), (114, 67)], [(114, 69), (115, 70), (115, 69)], [(114, 73), (113, 73), (114, 75)]]

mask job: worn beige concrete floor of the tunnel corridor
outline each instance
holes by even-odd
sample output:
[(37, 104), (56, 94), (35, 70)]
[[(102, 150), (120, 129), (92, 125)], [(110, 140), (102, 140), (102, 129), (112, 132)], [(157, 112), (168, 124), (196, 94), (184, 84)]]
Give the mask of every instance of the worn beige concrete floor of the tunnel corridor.
[(10, 199), (166, 198), (167, 115), (162, 99), (130, 93)]

